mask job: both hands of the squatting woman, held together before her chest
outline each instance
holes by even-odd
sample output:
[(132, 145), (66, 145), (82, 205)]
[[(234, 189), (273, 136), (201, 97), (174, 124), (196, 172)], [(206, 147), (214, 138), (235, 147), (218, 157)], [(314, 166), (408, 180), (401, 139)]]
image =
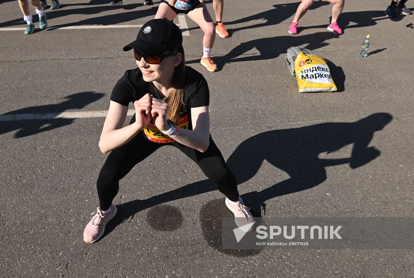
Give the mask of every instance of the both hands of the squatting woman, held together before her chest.
[(168, 103), (158, 98), (154, 98), (147, 93), (145, 96), (134, 102), (135, 122), (144, 128), (151, 121), (162, 131), (170, 129), (171, 125), (167, 122)]

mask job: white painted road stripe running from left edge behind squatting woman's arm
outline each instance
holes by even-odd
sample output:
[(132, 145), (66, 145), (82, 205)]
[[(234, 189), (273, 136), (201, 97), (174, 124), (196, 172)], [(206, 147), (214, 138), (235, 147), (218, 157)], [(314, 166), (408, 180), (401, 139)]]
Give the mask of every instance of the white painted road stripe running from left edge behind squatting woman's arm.
[[(0, 115), (0, 122), (21, 120), (45, 120), (45, 119), (76, 119), (106, 117), (108, 111), (62, 112), (62, 113), (37, 113), (37, 114), (10, 114)], [(135, 110), (128, 110), (127, 115), (134, 115)]]

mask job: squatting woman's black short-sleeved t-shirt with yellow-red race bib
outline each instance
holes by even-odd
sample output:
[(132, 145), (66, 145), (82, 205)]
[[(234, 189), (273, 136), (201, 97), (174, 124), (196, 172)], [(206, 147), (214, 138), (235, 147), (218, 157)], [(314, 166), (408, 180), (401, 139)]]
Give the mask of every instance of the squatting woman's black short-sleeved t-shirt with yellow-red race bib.
[[(191, 123), (191, 108), (209, 105), (210, 94), (205, 78), (191, 67), (185, 67), (185, 84), (183, 103), (181, 106), (180, 120), (178, 127), (193, 130)], [(150, 93), (157, 97), (154, 84), (146, 82), (142, 78), (142, 72), (139, 68), (127, 70), (121, 79), (116, 83), (111, 93), (111, 101), (128, 106), (130, 102), (142, 98), (145, 94)], [(135, 120), (135, 115), (133, 117)], [(174, 139), (163, 134), (151, 122), (144, 128), (142, 134), (147, 140), (166, 144), (174, 142)]]

